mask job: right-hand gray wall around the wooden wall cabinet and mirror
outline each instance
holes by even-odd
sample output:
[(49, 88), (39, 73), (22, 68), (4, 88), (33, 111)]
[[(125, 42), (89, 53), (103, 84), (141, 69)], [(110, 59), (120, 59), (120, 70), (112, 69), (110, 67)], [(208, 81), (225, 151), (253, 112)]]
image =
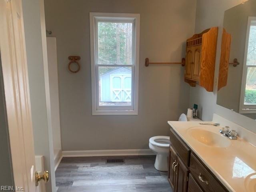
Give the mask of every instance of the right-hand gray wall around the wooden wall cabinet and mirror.
[(206, 28), (218, 26), (219, 33), (216, 55), (214, 92), (207, 92), (204, 88), (200, 86), (190, 88), (190, 106), (192, 106), (194, 103), (198, 104), (200, 117), (203, 120), (212, 120), (213, 114), (216, 113), (220, 116), (223, 116), (224, 118), (227, 118), (230, 121), (233, 121), (241, 126), (244, 126), (245, 128), (248, 128), (253, 132), (256, 132), (255, 120), (247, 118), (236, 112), (232, 112), (231, 110), (228, 110), (216, 104), (216, 85), (220, 61), (224, 11), (240, 4), (241, 2), (242, 0), (197, 0), (195, 32), (202, 32)]

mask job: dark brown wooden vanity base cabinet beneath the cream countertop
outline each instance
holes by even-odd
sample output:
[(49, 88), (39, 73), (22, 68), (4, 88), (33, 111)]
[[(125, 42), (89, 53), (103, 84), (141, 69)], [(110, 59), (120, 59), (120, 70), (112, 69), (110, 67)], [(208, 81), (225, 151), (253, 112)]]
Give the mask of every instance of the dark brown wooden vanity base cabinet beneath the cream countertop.
[(173, 192), (228, 192), (172, 127), (168, 181)]

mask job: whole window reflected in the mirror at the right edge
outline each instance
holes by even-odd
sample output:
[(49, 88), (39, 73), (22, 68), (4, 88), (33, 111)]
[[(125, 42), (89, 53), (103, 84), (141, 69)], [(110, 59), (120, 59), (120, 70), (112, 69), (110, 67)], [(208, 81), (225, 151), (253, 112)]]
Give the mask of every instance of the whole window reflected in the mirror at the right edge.
[(256, 112), (256, 17), (248, 18), (239, 112)]

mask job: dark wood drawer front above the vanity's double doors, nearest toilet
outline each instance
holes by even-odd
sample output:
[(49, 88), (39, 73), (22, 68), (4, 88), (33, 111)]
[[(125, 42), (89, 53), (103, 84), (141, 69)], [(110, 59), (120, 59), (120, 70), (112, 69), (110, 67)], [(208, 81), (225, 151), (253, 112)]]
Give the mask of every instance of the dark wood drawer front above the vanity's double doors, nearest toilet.
[(181, 160), (184, 162), (186, 166), (189, 166), (190, 161), (190, 149), (186, 146), (186, 144), (179, 138), (179, 136), (174, 132), (174, 130), (170, 129), (170, 142), (171, 146), (176, 150), (178, 156), (180, 156)]

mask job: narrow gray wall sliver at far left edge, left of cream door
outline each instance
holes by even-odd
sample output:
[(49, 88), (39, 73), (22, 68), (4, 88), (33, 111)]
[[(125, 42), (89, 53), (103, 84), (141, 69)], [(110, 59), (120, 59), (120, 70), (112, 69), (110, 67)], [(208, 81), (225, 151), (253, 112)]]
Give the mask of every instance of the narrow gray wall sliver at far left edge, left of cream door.
[(0, 55), (0, 186), (14, 186), (9, 131), (7, 125), (4, 82)]

